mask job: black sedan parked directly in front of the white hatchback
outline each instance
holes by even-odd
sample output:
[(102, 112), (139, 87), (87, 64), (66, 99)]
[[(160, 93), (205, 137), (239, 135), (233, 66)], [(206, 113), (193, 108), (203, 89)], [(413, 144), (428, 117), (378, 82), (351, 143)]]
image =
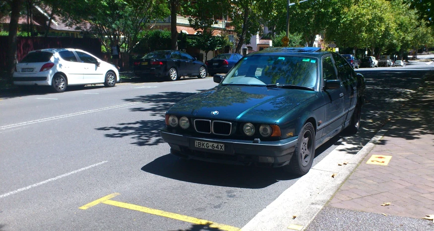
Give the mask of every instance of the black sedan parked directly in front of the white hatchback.
[(205, 78), (206, 65), (179, 50), (153, 51), (134, 60), (134, 73), (140, 77), (161, 77), (176, 81), (181, 76)]

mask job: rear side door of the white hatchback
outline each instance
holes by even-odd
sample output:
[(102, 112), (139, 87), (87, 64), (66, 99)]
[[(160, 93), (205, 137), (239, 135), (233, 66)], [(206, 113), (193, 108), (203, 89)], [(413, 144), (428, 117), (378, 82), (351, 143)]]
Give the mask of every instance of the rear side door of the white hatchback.
[(68, 78), (68, 84), (84, 83), (84, 65), (78, 62), (77, 56), (70, 50), (59, 52), (63, 59), (61, 69)]

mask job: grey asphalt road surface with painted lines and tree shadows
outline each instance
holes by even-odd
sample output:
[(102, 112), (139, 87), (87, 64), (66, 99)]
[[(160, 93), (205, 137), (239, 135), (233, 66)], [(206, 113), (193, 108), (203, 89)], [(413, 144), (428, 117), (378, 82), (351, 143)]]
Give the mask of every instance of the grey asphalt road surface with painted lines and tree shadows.
[[(343, 140), (357, 152), (431, 69), (415, 62), (357, 70), (368, 85), (363, 129), (319, 147), (314, 164)], [(246, 225), (298, 178), (182, 161), (159, 137), (173, 103), (215, 85), (182, 79), (0, 95), (0, 230), (217, 230), (183, 219)], [(112, 193), (119, 194), (79, 209)]]

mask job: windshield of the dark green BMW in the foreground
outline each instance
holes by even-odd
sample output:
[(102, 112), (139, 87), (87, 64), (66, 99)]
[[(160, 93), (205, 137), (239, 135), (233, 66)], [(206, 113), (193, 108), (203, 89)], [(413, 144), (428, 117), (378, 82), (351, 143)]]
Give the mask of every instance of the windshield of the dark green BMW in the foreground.
[(294, 85), (313, 89), (317, 59), (303, 56), (252, 55), (244, 57), (223, 80), (223, 85)]

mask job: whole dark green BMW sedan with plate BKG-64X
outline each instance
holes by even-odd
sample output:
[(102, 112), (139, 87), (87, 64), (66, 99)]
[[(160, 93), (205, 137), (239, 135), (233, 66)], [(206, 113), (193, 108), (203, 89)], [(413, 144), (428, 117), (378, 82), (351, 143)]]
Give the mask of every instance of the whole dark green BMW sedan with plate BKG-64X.
[(172, 154), (301, 176), (317, 147), (360, 127), (365, 79), (338, 53), (271, 47), (246, 55), (214, 82), (167, 111), (160, 135)]

